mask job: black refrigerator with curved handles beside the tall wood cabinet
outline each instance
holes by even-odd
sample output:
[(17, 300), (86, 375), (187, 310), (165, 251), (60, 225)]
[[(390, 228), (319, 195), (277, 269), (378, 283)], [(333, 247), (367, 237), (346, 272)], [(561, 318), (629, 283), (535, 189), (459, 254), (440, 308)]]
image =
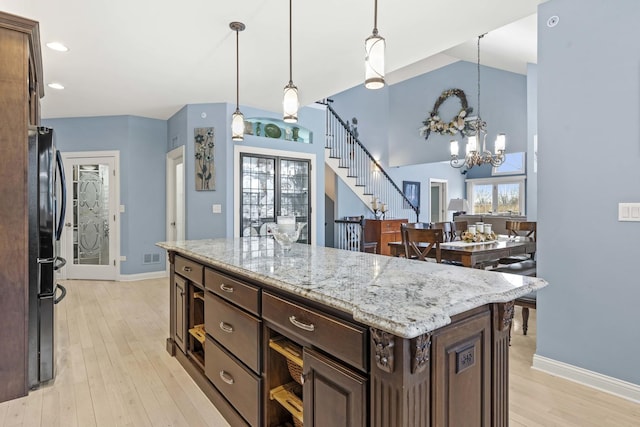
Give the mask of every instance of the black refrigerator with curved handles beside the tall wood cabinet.
[(55, 376), (55, 304), (66, 294), (55, 271), (66, 261), (58, 256), (64, 223), (66, 189), (53, 129), (29, 128), (29, 387)]

